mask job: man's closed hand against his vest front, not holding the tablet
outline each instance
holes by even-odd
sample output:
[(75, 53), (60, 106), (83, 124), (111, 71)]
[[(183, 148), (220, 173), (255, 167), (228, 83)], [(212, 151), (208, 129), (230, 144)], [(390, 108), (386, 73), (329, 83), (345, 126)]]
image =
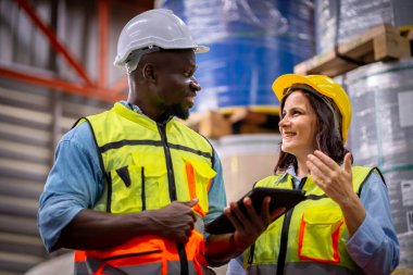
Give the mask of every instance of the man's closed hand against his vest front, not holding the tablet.
[(196, 222), (191, 208), (197, 203), (198, 199), (174, 201), (162, 209), (149, 211), (148, 217), (153, 223), (153, 234), (175, 242), (188, 241)]

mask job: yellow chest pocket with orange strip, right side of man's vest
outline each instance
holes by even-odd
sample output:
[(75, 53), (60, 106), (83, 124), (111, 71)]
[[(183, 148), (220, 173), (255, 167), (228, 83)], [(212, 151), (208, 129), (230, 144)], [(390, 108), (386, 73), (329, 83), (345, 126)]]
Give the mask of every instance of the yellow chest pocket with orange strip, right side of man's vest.
[(216, 172), (202, 161), (184, 157), (184, 162), (189, 199), (199, 199), (199, 203), (192, 209), (201, 216), (204, 216), (209, 209), (208, 191), (211, 179), (216, 175)]

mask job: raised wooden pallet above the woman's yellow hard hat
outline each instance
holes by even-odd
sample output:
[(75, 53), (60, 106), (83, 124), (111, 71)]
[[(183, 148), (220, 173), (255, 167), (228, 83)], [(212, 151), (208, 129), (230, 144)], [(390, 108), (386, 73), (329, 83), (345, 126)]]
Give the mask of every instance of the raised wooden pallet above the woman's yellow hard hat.
[(323, 74), (330, 77), (360, 65), (411, 57), (409, 38), (389, 24), (377, 26), (363, 35), (338, 45), (336, 49), (316, 55), (295, 66), (296, 74)]

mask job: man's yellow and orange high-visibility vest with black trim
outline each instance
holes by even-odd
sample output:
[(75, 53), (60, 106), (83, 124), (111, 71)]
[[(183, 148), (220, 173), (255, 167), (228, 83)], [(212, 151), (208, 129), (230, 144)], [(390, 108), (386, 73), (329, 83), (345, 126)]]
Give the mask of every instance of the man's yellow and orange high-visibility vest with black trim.
[(198, 198), (199, 203), (187, 243), (138, 236), (108, 250), (75, 251), (75, 274), (206, 274), (201, 217), (216, 175), (209, 141), (176, 120), (159, 124), (121, 103), (80, 122), (92, 129), (107, 177), (95, 210), (137, 213), (175, 200)]

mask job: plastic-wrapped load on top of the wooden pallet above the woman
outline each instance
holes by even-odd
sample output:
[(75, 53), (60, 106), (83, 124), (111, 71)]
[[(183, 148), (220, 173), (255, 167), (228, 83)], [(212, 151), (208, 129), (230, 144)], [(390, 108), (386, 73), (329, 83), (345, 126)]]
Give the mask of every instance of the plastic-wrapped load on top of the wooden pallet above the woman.
[(315, 0), (316, 53), (328, 52), (384, 23), (413, 27), (413, 1)]

